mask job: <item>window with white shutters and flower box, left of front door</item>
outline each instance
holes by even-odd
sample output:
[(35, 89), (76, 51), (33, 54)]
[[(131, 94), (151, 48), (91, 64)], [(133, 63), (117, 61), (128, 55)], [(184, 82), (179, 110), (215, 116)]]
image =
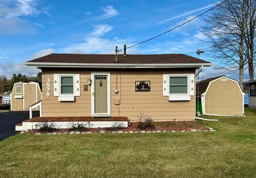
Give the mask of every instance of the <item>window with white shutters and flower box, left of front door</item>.
[(80, 75), (54, 74), (54, 96), (59, 101), (74, 101), (74, 96), (80, 96)]

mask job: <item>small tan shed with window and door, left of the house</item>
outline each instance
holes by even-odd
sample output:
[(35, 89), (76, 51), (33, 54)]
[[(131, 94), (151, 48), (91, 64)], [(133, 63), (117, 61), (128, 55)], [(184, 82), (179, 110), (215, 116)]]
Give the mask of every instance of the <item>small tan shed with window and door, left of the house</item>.
[(15, 83), (10, 96), (12, 111), (28, 110), (31, 104), (42, 100), (39, 84), (28, 80)]

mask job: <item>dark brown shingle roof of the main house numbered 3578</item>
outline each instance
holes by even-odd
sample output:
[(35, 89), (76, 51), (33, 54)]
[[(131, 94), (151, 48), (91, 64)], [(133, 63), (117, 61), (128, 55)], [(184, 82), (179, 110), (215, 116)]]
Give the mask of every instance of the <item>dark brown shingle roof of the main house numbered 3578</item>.
[[(115, 54), (49, 54), (28, 62), (57, 63), (116, 63)], [(130, 54), (118, 55), (118, 63), (210, 63), (185, 54)]]

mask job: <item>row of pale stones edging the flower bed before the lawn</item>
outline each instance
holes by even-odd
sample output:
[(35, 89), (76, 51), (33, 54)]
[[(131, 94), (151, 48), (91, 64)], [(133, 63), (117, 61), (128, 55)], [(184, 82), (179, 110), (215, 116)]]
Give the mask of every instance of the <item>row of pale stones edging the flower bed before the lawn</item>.
[[(209, 130), (203, 130), (203, 132), (214, 132), (215, 130), (213, 130), (213, 128), (211, 127), (207, 127)], [(21, 131), (20, 134), (23, 133), (28, 133), (30, 130), (28, 131)], [(112, 132), (106, 132), (106, 131), (100, 131), (100, 132), (79, 132), (79, 131), (71, 131), (71, 132), (53, 132), (53, 133), (41, 133), (41, 132), (37, 132), (34, 133), (35, 135), (67, 135), (67, 134), (92, 134), (92, 133), (100, 133), (100, 134), (106, 134), (106, 133), (111, 133), (111, 134), (136, 134), (136, 133), (167, 133), (167, 132), (171, 132), (171, 133), (177, 133), (177, 132), (201, 132), (202, 130), (196, 130), (196, 129), (191, 129), (189, 131), (112, 131)]]

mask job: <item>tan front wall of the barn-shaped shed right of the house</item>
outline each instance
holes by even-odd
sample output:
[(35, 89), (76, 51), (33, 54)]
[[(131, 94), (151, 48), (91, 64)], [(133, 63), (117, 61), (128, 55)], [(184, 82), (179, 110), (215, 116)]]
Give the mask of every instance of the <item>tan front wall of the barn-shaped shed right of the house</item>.
[(205, 94), (205, 114), (243, 115), (243, 94), (233, 80), (215, 80)]

